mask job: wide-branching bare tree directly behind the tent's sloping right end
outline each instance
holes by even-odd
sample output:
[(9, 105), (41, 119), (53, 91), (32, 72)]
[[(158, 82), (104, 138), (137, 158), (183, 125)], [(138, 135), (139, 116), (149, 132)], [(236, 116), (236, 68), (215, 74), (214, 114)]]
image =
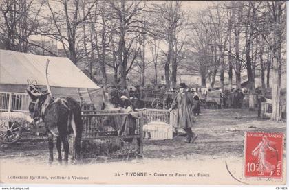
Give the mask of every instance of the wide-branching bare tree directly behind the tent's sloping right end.
[[(46, 1), (50, 11), (43, 15), (45, 21), (37, 34), (57, 40), (63, 46), (66, 56), (77, 64), (85, 57), (82, 34), (83, 23), (89, 19), (96, 1), (85, 3), (84, 0), (54, 0)], [(53, 5), (52, 5), (53, 3)], [(83, 6), (85, 6), (83, 8)], [(84, 13), (83, 13), (84, 12)]]

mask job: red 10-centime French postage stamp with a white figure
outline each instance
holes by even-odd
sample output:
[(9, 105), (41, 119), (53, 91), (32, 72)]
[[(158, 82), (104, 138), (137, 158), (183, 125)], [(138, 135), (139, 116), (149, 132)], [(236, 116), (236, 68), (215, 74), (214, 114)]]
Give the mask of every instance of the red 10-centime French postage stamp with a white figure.
[(246, 132), (245, 177), (282, 178), (283, 134)]

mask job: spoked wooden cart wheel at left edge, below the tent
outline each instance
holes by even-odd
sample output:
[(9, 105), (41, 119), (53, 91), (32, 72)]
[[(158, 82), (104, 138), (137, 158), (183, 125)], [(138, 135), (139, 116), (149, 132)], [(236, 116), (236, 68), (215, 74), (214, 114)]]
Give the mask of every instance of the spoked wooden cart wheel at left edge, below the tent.
[(1, 121), (0, 141), (11, 144), (17, 142), (21, 137), (21, 125), (17, 121)]

